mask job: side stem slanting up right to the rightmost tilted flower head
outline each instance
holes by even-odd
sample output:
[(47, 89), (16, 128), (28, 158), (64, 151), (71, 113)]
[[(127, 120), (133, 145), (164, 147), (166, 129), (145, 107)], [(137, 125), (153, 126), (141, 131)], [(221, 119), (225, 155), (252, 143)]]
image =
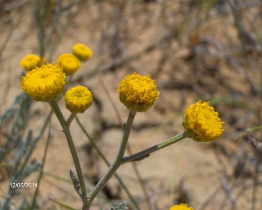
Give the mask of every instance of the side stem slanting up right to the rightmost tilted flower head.
[(150, 155), (150, 153), (153, 153), (157, 150), (163, 149), (166, 146), (170, 146), (171, 144), (174, 144), (176, 142), (181, 141), (182, 139), (186, 138), (186, 133), (182, 132), (170, 139), (165, 140), (164, 142), (160, 143), (160, 144), (156, 144), (154, 146), (151, 146), (145, 150), (142, 150), (140, 152), (134, 153), (132, 155), (129, 155), (127, 157), (122, 158), (121, 164), (124, 163), (128, 163), (130, 161), (134, 161), (134, 160), (143, 160), (143, 158), (146, 158)]

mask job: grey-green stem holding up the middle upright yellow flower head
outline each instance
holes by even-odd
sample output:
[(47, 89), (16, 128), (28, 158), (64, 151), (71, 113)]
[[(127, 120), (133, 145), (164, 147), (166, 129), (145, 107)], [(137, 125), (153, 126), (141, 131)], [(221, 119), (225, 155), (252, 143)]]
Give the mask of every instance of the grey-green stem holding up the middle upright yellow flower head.
[(104, 174), (104, 176), (101, 178), (101, 180), (97, 183), (95, 188), (89, 193), (89, 195), (88, 195), (89, 207), (87, 208), (87, 210), (89, 210), (92, 201), (97, 196), (99, 191), (101, 191), (101, 189), (104, 187), (104, 185), (108, 182), (108, 180), (113, 176), (115, 171), (121, 165), (121, 160), (122, 160), (124, 153), (125, 153), (125, 150), (126, 150), (126, 144), (127, 144), (128, 138), (129, 138), (131, 126), (133, 124), (135, 115), (136, 115), (136, 112), (133, 112), (131, 110), (129, 111), (129, 115), (128, 115), (128, 118), (127, 118), (127, 121), (126, 121), (126, 125), (125, 125), (125, 129), (124, 129), (124, 133), (123, 133), (123, 136), (122, 136), (122, 140), (121, 140), (121, 144), (120, 144), (120, 147), (119, 147), (118, 154), (115, 158), (114, 163), (109, 167), (108, 171)]

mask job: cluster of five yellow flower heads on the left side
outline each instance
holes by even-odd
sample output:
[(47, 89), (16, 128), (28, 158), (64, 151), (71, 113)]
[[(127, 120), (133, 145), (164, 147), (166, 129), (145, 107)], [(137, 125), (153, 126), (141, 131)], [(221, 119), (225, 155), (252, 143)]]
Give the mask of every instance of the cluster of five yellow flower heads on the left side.
[[(73, 54), (62, 54), (58, 65), (44, 64), (44, 59), (30, 54), (21, 61), (21, 66), (28, 71), (22, 77), (22, 90), (36, 101), (55, 100), (64, 90), (66, 75), (78, 71), (80, 60), (86, 61), (91, 56), (91, 50), (80, 43), (73, 47)], [(71, 88), (65, 94), (66, 108), (70, 112), (83, 113), (92, 105), (92, 100), (91, 92), (83, 86)]]

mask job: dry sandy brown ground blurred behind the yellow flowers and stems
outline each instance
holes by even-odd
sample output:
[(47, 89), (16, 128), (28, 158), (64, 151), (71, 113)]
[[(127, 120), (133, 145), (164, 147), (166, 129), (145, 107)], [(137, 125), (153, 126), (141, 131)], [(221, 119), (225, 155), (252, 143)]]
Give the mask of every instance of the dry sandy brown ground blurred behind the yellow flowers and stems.
[[(47, 32), (57, 11), (56, 1), (51, 2), (45, 21)], [(66, 7), (71, 2), (62, 1), (62, 5)], [(30, 53), (39, 54), (35, 3), (33, 0), (0, 1), (0, 46), (4, 46), (13, 29), (1, 52), (0, 114), (21, 92), (21, 59)], [(71, 53), (76, 43), (84, 43), (93, 51), (93, 57), (82, 63), (73, 75), (70, 86), (81, 84), (92, 91), (94, 104), (78, 117), (110, 162), (117, 153), (121, 124), (128, 115), (116, 89), (128, 73), (150, 74), (161, 92), (152, 108), (136, 115), (129, 139), (133, 152), (182, 132), (184, 110), (200, 99), (211, 101), (225, 121), (225, 133), (214, 143), (186, 139), (136, 162), (152, 209), (169, 209), (175, 171), (174, 204), (187, 202), (194, 210), (262, 209), (261, 150), (257, 146), (261, 131), (237, 138), (246, 129), (261, 124), (261, 13), (259, 0), (90, 0), (80, 1), (62, 13), (45, 57), (48, 62), (56, 62), (60, 54)], [(59, 105), (68, 116), (64, 102)], [(32, 128), (34, 135), (41, 129), (49, 110), (47, 103), (33, 103), (33, 117), (27, 129)], [(10, 123), (1, 125), (2, 144)], [(66, 139), (59, 130), (60, 125), (53, 116), (44, 171), (69, 180), (69, 169), (74, 170), (74, 165)], [(71, 131), (87, 188), (92, 189), (107, 166), (76, 122)], [(47, 133), (33, 154), (37, 161), (42, 159), (46, 136)], [(12, 163), (12, 156), (5, 161)], [(8, 171), (3, 171), (1, 199), (9, 184)], [(121, 166), (117, 173), (141, 209), (149, 209), (132, 164)], [(31, 174), (26, 182), (35, 183), (37, 175), (37, 172)], [(126, 200), (133, 209), (114, 177), (107, 188), (109, 191), (102, 192), (102, 197), (111, 197), (114, 204)], [(23, 196), (30, 200), (34, 191), (19, 192), (18, 203)], [(62, 209), (48, 198), (81, 208), (72, 184), (44, 174), (37, 197), (40, 209)], [(97, 198), (92, 209), (110, 206), (103, 198)]]

